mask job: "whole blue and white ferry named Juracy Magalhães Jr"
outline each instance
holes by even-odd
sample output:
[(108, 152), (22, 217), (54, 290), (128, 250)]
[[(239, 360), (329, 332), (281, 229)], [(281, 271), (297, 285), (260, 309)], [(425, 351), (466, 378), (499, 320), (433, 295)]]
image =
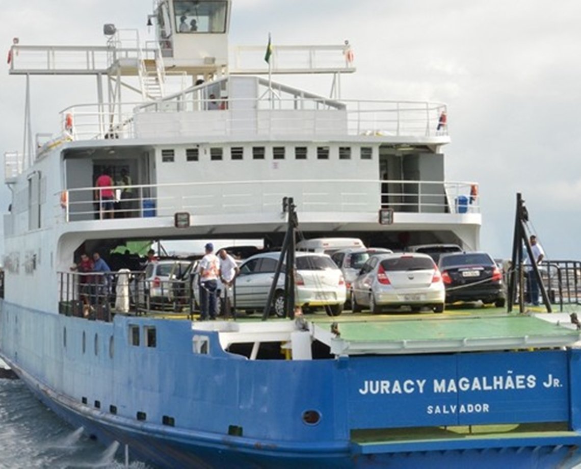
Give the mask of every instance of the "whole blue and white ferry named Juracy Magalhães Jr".
[[(306, 238), (479, 249), (478, 183), (444, 177), (444, 103), (344, 99), (348, 42), (231, 47), (231, 7), (156, 0), (153, 41), (106, 24), (102, 46), (10, 48), (27, 99), (23, 151), (5, 153), (0, 357), (71, 425), (160, 467), (577, 463), (581, 352), (564, 320), (193, 321), (191, 302), (152, 312), (109, 290), (85, 308), (82, 253), (113, 265), (135, 241), (280, 246), (285, 198)], [(282, 81), (314, 74), (328, 96)], [(96, 98), (33, 135), (30, 87), (46, 75), (95, 77)], [(114, 207), (96, 187), (107, 172)], [(93, 277), (122, 284), (116, 267)]]

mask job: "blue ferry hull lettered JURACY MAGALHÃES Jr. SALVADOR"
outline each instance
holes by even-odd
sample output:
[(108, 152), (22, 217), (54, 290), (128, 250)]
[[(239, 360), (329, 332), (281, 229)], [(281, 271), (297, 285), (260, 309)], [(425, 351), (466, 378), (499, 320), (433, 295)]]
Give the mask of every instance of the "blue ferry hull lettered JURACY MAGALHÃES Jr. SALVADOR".
[[(131, 345), (131, 327), (155, 327), (155, 347)], [(209, 339), (207, 355), (192, 352), (192, 335), (200, 334)], [(0, 338), (1, 355), (46, 406), (104, 444), (127, 444), (132, 457), (161, 467), (530, 468), (571, 467), (579, 457), (576, 351), (254, 361), (224, 353), (216, 333), (192, 331), (187, 321), (116, 317), (101, 323), (6, 303)], [(462, 368), (474, 368), (485, 376), (479, 386), (486, 389), (503, 360), (512, 361), (507, 376), (513, 368), (523, 373), (522, 382), (515, 377), (521, 390), (510, 389), (508, 381), (502, 382), (508, 389), (487, 392), (443, 388), (454, 381), (446, 373), (460, 376)], [(538, 380), (527, 374), (533, 373), (529, 366), (540, 373)], [(561, 381), (545, 386), (544, 369)], [(393, 380), (379, 385), (386, 370), (408, 373), (403, 391), (396, 392)], [(428, 389), (432, 380), (435, 389)], [(467, 409), (469, 402), (486, 402), (490, 409), (462, 414), (454, 407), (462, 402)], [(304, 424), (300, 416), (307, 409), (319, 411), (321, 421)], [(136, 418), (139, 411), (144, 418)], [(165, 416), (175, 425), (162, 424)], [(569, 430), (367, 443), (351, 436), (353, 429), (517, 421), (568, 422)], [(232, 425), (242, 435), (232, 434)]]

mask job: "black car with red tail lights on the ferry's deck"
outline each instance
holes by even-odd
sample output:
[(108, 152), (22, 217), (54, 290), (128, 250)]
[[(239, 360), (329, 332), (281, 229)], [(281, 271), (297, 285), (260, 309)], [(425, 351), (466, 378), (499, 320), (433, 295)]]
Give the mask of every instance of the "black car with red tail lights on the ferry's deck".
[(446, 303), (478, 301), (503, 307), (503, 273), (485, 252), (444, 254), (438, 267), (446, 287)]

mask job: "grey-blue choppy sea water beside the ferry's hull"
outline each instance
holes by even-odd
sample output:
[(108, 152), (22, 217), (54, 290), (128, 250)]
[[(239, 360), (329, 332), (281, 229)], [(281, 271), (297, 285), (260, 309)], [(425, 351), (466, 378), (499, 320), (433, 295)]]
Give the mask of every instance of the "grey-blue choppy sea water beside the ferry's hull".
[[(20, 380), (0, 380), (0, 469), (123, 469), (123, 447), (101, 446), (71, 428)], [(130, 469), (152, 469), (130, 461)]]

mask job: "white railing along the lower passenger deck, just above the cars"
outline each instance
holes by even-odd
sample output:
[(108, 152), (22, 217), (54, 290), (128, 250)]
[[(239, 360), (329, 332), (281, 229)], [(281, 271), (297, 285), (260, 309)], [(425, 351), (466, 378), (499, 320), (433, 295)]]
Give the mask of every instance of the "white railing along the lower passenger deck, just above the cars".
[[(279, 212), (284, 196), (300, 212), (377, 213), (380, 208), (408, 213), (480, 213), (475, 182), (401, 180), (271, 180), (188, 182), (116, 186), (117, 203), (105, 212), (97, 188), (59, 192), (59, 219), (166, 217)], [(125, 194), (122, 192), (124, 189)], [(473, 194), (472, 196), (470, 194)]]

